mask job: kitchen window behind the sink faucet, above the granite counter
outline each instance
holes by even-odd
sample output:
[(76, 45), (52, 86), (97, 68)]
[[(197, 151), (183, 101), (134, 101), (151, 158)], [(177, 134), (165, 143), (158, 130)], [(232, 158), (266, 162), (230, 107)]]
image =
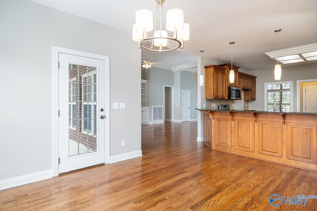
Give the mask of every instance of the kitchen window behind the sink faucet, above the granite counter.
[[(265, 83), (265, 111), (273, 111), (276, 101), (282, 102), (282, 111), (292, 111), (292, 82)], [(276, 104), (279, 111), (280, 104)]]

